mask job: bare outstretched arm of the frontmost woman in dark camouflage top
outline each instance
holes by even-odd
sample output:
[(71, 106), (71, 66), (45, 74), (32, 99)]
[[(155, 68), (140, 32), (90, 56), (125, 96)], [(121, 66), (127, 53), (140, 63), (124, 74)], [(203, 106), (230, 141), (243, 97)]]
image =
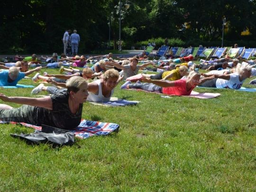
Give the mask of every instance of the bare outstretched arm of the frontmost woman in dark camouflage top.
[(43, 98), (31, 98), (31, 97), (7, 97), (0, 93), (0, 99), (5, 102), (18, 103), (24, 105), (31, 105), (41, 108), (53, 110), (53, 102), (50, 96)]

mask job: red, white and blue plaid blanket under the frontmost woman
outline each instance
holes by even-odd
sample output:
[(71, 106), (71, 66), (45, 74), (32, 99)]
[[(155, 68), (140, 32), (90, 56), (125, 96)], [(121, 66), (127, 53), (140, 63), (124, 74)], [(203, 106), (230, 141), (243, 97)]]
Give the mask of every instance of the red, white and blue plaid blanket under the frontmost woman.
[[(31, 125), (27, 123), (17, 123), (17, 122), (6, 122), (1, 121), (0, 124), (11, 123), (11, 124), (21, 124), (26, 127), (32, 127), (41, 131), (42, 127), (37, 125)], [(90, 120), (82, 120), (80, 125), (76, 128), (69, 130), (75, 134), (76, 137), (80, 139), (87, 139), (91, 136), (100, 136), (100, 135), (108, 135), (112, 132), (117, 132), (119, 130), (119, 125), (114, 123), (103, 123), (99, 121), (90, 121)]]

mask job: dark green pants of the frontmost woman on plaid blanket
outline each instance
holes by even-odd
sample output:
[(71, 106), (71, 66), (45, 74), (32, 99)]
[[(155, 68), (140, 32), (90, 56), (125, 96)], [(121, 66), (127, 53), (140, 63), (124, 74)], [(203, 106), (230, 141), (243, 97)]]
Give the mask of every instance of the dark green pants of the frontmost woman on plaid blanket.
[(37, 125), (37, 114), (34, 112), (35, 107), (29, 105), (22, 105), (19, 108), (1, 109), (0, 120), (24, 122), (32, 125)]

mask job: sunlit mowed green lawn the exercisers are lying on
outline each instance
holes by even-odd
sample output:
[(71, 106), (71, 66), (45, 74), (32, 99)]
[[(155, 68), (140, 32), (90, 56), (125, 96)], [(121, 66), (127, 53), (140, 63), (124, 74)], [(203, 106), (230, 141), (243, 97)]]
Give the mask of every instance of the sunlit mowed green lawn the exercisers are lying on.
[[(251, 79), (244, 86), (253, 87)], [(119, 133), (52, 148), (9, 135), (31, 128), (0, 125), (0, 191), (256, 191), (256, 93), (196, 88), (221, 95), (165, 99), (120, 85), (113, 96), (142, 102), (116, 108), (85, 103), (82, 115), (117, 123)], [(31, 96), (31, 90), (0, 92)]]

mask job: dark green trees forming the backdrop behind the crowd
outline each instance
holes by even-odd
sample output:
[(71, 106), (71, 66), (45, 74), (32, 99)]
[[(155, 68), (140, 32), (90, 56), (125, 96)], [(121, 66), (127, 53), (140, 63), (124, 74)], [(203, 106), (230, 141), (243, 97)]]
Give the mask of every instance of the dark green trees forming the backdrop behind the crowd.
[[(150, 38), (256, 40), (256, 0), (121, 0), (121, 39), (129, 46)], [(67, 29), (81, 37), (80, 50), (104, 49), (119, 39), (119, 0), (3, 1), (0, 52), (61, 52)], [(241, 32), (248, 30), (247, 36)]]

